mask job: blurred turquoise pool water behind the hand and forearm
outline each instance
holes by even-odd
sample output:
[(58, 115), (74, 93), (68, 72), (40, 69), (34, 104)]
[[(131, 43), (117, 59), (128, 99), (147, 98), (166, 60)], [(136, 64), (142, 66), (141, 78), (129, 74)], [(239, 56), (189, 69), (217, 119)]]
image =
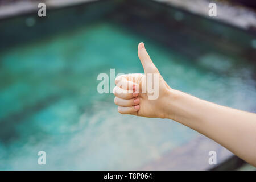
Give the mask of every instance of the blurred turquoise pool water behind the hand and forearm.
[[(197, 137), (174, 121), (121, 115), (100, 73), (143, 72), (144, 42), (168, 84), (255, 111), (254, 68), (221, 53), (190, 60), (125, 28), (98, 22), (0, 52), (0, 169), (138, 169)], [(239, 65), (239, 67), (237, 66)], [(46, 151), (47, 165), (38, 164)]]

